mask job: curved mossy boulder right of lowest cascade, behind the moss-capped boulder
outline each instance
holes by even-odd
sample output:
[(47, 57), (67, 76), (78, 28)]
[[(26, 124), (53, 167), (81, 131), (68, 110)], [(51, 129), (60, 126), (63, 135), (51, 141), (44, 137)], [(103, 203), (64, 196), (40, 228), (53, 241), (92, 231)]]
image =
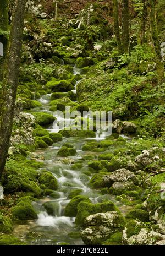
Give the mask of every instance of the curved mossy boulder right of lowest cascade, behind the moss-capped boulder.
[(91, 203), (91, 200), (84, 195), (76, 195), (65, 207), (65, 216), (75, 217), (78, 212), (78, 205), (82, 201)]

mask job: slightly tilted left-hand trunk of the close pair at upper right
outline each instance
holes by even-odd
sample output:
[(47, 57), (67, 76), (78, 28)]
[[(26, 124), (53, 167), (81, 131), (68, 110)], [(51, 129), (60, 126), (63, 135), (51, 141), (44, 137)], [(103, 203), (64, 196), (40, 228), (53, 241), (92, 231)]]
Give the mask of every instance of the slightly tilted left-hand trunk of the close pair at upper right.
[(118, 0), (113, 0), (113, 22), (114, 22), (114, 32), (116, 35), (116, 41), (118, 46), (118, 51), (122, 53), (122, 43), (120, 39), (120, 30), (119, 30), (119, 15), (118, 15)]

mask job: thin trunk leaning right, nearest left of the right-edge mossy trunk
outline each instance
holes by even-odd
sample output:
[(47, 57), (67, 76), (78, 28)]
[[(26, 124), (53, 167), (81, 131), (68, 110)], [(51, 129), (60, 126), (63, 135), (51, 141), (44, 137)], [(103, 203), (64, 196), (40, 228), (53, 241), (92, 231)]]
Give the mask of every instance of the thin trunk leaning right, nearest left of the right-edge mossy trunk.
[(146, 23), (147, 23), (147, 16), (148, 16), (146, 0), (142, 0), (142, 2), (143, 2), (143, 10), (142, 10), (139, 39), (138, 39), (138, 43), (140, 45), (142, 45), (145, 42), (145, 30), (146, 30)]

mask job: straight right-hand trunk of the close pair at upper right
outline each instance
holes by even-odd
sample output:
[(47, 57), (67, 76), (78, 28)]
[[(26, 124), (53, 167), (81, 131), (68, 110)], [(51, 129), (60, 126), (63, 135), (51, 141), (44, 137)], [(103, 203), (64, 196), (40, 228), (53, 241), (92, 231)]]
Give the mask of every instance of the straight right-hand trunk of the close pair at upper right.
[(123, 0), (123, 52), (129, 51), (129, 0)]

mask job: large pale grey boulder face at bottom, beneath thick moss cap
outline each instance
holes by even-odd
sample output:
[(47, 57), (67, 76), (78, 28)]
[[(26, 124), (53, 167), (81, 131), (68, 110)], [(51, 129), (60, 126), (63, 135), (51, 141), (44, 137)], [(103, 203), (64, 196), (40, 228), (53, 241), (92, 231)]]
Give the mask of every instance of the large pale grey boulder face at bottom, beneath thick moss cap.
[(84, 220), (87, 228), (81, 233), (85, 244), (101, 244), (109, 235), (124, 226), (124, 218), (116, 211), (97, 213)]

